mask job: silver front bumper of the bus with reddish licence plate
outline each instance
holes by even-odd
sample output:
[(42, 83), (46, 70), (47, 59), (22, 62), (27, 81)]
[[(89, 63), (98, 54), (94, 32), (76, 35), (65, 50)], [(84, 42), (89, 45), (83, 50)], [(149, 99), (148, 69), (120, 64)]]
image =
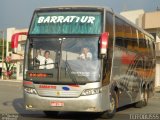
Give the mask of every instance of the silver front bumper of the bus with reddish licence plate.
[(102, 97), (102, 93), (78, 98), (42, 97), (24, 93), (25, 108), (42, 111), (102, 112), (109, 108), (109, 104)]

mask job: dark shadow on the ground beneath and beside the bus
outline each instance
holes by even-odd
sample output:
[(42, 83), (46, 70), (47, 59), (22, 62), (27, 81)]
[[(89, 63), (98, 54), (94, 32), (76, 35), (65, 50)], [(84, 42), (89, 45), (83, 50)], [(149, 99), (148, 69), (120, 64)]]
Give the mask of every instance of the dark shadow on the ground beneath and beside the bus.
[[(43, 111), (28, 111), (24, 108), (24, 99), (18, 98), (13, 101), (13, 107), (16, 110), (17, 114), (19, 115), (20, 120), (28, 120), (28, 119), (34, 119), (34, 120), (50, 120), (50, 119), (81, 119), (81, 120), (95, 120), (95, 119), (101, 119), (100, 114), (90, 113), (90, 112), (59, 112), (57, 116), (46, 116)], [(121, 115), (118, 112), (123, 111), (125, 109), (131, 108), (133, 105), (127, 105), (125, 107), (121, 107), (117, 109), (116, 116), (113, 117), (112, 120), (122, 117), (126, 118), (127, 115)]]

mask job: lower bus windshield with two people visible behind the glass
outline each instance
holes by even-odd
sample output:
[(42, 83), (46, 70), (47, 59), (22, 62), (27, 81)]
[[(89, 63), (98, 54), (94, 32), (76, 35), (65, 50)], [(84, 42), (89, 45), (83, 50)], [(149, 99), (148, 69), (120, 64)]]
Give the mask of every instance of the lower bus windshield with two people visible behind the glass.
[(99, 81), (98, 37), (31, 39), (29, 70), (54, 72), (58, 68), (61, 69), (62, 81), (74, 80), (85, 83)]

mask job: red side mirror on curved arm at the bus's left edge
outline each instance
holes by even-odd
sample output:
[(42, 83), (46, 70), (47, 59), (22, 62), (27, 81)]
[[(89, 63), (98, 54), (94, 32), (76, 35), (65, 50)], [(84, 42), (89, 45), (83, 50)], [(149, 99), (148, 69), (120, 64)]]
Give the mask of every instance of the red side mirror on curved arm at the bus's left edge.
[(11, 48), (12, 48), (12, 52), (17, 54), (17, 49), (18, 49), (18, 38), (20, 35), (27, 35), (27, 32), (19, 32), (19, 33), (15, 33), (12, 35), (11, 38)]

